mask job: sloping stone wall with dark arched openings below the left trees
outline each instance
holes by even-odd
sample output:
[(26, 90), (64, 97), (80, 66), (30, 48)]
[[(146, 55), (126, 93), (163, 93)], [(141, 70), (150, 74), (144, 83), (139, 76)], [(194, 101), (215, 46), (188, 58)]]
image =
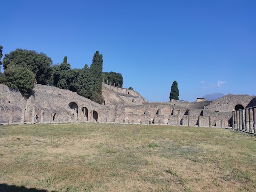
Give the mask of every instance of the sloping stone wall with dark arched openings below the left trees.
[(1, 124), (114, 121), (113, 108), (68, 90), (36, 84), (33, 93), (25, 98), (6, 85), (0, 84), (0, 89)]

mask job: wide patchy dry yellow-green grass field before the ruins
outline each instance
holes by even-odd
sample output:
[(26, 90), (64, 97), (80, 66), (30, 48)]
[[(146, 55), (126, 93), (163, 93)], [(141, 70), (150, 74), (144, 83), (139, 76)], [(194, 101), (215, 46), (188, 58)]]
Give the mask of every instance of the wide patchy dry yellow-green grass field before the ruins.
[(256, 137), (157, 125), (0, 126), (0, 183), (2, 191), (256, 191)]

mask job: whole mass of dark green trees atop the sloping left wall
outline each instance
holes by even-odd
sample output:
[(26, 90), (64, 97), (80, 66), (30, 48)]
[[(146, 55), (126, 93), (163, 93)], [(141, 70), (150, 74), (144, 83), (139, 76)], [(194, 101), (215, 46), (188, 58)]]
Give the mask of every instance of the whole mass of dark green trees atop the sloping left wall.
[[(2, 49), (0, 46), (0, 59), (3, 55)], [(51, 85), (74, 91), (102, 104), (102, 78), (123, 86), (123, 76), (112, 71), (102, 73), (102, 65), (102, 54), (98, 51), (93, 56), (90, 68), (85, 65), (82, 69), (71, 69), (66, 56), (60, 65), (52, 65), (52, 59), (44, 53), (17, 49), (5, 54), (4, 73), (1, 75), (0, 83), (19, 89), (26, 95), (32, 91), (34, 83)]]

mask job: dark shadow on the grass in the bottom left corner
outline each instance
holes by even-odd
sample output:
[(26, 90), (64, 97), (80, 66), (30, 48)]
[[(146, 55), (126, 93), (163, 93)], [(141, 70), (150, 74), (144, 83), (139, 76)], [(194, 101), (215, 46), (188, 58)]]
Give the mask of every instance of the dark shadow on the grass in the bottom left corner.
[[(36, 189), (36, 188), (26, 188), (24, 186), (15, 186), (15, 185), (7, 185), (5, 183), (0, 184), (0, 191), (1, 192), (48, 192), (44, 189)], [(55, 191), (51, 191), (55, 192)]]

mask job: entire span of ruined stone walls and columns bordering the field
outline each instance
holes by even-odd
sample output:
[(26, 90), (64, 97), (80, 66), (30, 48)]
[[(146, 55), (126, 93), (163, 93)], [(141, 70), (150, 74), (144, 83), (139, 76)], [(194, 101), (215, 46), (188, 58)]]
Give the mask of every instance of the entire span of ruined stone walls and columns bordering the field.
[[(256, 106), (255, 96), (232, 94), (215, 101), (147, 102), (137, 91), (105, 83), (102, 105), (75, 92), (46, 85), (36, 84), (27, 98), (6, 85), (0, 84), (0, 90), (0, 124), (102, 122), (235, 127), (233, 111), (243, 109), (246, 116), (245, 108)], [(252, 111), (254, 126), (256, 112)]]

